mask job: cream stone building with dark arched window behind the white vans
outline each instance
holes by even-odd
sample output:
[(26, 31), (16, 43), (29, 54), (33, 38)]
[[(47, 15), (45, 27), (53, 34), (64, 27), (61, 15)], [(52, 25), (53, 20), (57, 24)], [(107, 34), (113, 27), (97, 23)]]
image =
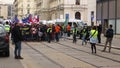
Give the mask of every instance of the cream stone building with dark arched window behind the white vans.
[[(46, 5), (47, 4), (47, 5)], [(87, 20), (87, 0), (38, 0), (38, 14), (42, 20), (71, 19)]]

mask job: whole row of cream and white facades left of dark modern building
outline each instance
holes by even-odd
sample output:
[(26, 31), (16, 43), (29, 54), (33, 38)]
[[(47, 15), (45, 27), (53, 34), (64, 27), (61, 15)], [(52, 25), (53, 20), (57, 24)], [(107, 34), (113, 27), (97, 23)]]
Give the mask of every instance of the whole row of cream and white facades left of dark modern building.
[[(40, 20), (80, 19), (88, 25), (96, 22), (96, 0), (15, 0), (15, 15), (39, 15)], [(92, 19), (91, 19), (92, 18)]]

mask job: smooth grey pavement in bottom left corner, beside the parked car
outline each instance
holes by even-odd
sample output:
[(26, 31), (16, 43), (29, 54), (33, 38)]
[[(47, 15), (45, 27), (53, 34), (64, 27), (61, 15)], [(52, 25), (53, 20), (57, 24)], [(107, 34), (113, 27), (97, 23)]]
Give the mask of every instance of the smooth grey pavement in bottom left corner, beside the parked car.
[(0, 68), (24, 68), (20, 60), (13, 57), (13, 47), (10, 48), (10, 57), (0, 56)]

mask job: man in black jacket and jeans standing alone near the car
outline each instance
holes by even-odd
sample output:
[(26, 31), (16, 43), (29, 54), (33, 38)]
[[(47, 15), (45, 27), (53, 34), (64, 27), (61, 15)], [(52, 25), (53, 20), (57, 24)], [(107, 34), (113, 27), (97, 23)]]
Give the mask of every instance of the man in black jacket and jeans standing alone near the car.
[(15, 26), (12, 30), (12, 35), (13, 35), (13, 41), (15, 43), (15, 59), (23, 59), (21, 57), (21, 41), (22, 41), (22, 33), (20, 30), (20, 24), (15, 23)]

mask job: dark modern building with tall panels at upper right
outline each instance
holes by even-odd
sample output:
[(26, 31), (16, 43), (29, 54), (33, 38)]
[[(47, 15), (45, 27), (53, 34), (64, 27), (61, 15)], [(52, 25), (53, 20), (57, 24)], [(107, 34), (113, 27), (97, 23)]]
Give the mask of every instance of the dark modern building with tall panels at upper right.
[(120, 0), (97, 0), (97, 23), (103, 26), (103, 32), (109, 24), (113, 25), (115, 34), (120, 34)]

